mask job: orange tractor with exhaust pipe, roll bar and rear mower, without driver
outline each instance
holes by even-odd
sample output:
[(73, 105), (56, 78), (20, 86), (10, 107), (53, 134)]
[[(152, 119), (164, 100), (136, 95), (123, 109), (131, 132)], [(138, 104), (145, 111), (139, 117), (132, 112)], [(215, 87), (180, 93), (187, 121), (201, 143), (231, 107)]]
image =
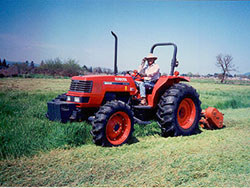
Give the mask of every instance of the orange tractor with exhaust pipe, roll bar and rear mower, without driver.
[(100, 146), (126, 143), (134, 131), (134, 123), (148, 124), (150, 120), (158, 122), (164, 137), (199, 133), (199, 123), (207, 129), (223, 126), (223, 114), (211, 107), (202, 112), (196, 90), (180, 83), (190, 79), (174, 71), (179, 64), (174, 43), (152, 46), (152, 54), (158, 46), (174, 48), (171, 70), (168, 76), (161, 76), (153, 88), (147, 89), (148, 105), (139, 105), (141, 96), (135, 80), (140, 75), (133, 71), (117, 74), (118, 39), (115, 33), (112, 35), (115, 37), (114, 75), (72, 77), (69, 91), (48, 102), (47, 117), (50, 120), (89, 120), (93, 141)]

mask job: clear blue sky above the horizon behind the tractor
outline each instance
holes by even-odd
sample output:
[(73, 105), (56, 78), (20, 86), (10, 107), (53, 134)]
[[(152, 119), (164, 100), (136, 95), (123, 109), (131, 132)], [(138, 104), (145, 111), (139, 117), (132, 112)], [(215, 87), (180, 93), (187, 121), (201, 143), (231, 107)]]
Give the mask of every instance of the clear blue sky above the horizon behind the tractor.
[[(237, 74), (250, 72), (250, 1), (1, 0), (0, 58), (75, 59), (118, 70), (137, 69), (155, 43), (178, 47), (180, 73), (213, 74), (229, 54)], [(170, 72), (172, 47), (157, 47), (161, 72)]]

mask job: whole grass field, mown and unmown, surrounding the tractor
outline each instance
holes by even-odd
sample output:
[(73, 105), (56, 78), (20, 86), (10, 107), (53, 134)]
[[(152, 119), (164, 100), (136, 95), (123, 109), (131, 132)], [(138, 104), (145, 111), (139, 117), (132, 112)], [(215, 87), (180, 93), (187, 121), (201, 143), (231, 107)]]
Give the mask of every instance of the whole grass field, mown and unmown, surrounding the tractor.
[(92, 143), (87, 123), (48, 121), (47, 101), (69, 79), (0, 80), (0, 186), (250, 186), (250, 85), (190, 83), (202, 108), (224, 114), (224, 129), (159, 136), (135, 125), (130, 144)]

